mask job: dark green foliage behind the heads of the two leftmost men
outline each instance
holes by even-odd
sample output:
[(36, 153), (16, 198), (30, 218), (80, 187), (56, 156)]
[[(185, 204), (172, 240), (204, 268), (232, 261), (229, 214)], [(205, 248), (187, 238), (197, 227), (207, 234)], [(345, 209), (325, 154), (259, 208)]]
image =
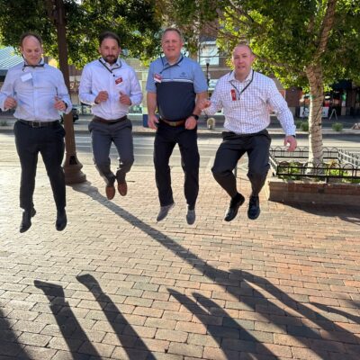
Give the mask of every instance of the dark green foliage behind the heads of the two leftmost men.
[[(129, 56), (149, 58), (159, 49), (155, 0), (63, 0), (69, 62), (82, 67), (98, 56), (98, 35), (114, 31)], [(51, 0), (0, 0), (0, 40), (17, 47), (24, 31), (39, 32), (47, 55), (58, 58)], [(14, 19), (16, 14), (17, 19)]]

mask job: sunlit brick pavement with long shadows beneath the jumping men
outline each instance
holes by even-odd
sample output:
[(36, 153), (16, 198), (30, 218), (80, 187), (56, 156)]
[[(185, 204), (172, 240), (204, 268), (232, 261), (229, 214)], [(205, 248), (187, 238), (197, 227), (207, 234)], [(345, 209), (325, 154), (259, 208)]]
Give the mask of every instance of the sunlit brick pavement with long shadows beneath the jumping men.
[(134, 166), (112, 202), (94, 166), (84, 172), (59, 233), (40, 166), (20, 234), (20, 168), (0, 163), (0, 360), (359, 358), (359, 208), (263, 196), (258, 220), (246, 202), (226, 223), (228, 199), (203, 170), (188, 226), (175, 168), (176, 206), (157, 224), (151, 167)]

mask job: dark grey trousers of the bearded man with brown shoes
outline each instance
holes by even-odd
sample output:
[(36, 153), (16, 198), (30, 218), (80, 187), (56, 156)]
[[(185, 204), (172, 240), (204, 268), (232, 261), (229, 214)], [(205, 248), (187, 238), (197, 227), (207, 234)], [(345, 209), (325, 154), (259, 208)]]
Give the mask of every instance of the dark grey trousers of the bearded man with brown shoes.
[[(106, 184), (113, 184), (115, 177), (122, 183), (134, 163), (131, 121), (125, 120), (113, 124), (91, 121), (89, 124), (93, 145), (94, 164)], [(110, 148), (114, 143), (119, 157), (116, 176), (112, 173)]]

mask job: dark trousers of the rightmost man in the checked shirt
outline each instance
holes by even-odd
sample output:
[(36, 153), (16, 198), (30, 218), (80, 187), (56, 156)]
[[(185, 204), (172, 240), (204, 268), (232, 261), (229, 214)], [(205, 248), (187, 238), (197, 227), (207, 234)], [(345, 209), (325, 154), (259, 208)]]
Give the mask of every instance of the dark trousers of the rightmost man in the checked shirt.
[(257, 196), (266, 181), (269, 170), (269, 148), (271, 144), (267, 130), (257, 134), (237, 135), (233, 132), (222, 133), (222, 143), (212, 166), (212, 175), (232, 198), (238, 193), (236, 177), (233, 174), (238, 160), (247, 153), (248, 172), (252, 195)]

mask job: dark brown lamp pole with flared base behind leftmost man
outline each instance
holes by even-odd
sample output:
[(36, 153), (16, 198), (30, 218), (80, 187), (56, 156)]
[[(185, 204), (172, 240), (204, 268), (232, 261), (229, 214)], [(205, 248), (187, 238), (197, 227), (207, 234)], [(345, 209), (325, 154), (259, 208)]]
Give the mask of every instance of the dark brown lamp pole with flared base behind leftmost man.
[[(50, 0), (52, 5), (53, 19), (58, 35), (58, 63), (63, 73), (67, 91), (70, 94), (70, 80), (67, 62), (67, 38), (65, 30), (65, 14), (63, 0)], [(63, 163), (66, 184), (77, 184), (86, 181), (86, 175), (81, 171), (83, 165), (76, 157), (76, 144), (72, 112), (64, 114), (65, 135), (65, 160)]]

